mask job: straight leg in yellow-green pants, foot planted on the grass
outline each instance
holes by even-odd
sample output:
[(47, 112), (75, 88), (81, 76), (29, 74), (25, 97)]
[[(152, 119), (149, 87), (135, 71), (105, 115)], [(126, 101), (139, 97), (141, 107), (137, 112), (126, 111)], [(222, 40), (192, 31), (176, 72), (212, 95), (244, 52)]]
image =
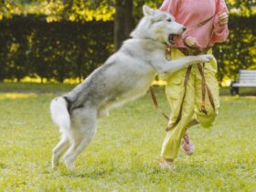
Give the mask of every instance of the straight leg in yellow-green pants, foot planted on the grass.
[[(174, 49), (172, 51), (172, 59), (184, 57), (179, 51)], [(182, 116), (179, 123), (166, 133), (165, 140), (162, 146), (161, 156), (166, 161), (174, 161), (178, 153), (181, 138), (186, 133), (187, 124), (191, 121), (194, 114), (195, 106), (195, 88), (194, 88), (194, 71), (192, 69), (189, 80), (187, 82), (187, 93), (183, 104)], [(169, 77), (167, 85), (165, 87), (165, 93), (167, 100), (169, 101), (172, 113), (170, 117), (170, 123), (176, 122), (178, 116), (181, 101), (184, 95), (185, 87), (184, 80), (186, 77), (187, 69), (181, 69), (177, 71), (173, 76)]]

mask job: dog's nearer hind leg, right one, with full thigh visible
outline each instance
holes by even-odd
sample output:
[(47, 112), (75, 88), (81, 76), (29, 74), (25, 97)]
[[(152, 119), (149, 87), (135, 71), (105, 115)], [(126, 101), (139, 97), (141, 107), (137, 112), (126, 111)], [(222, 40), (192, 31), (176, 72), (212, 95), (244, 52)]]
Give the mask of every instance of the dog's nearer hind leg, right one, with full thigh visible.
[(96, 133), (96, 124), (96, 110), (83, 109), (73, 113), (71, 130), (72, 144), (64, 156), (66, 166), (69, 169), (73, 168), (76, 157), (91, 143)]

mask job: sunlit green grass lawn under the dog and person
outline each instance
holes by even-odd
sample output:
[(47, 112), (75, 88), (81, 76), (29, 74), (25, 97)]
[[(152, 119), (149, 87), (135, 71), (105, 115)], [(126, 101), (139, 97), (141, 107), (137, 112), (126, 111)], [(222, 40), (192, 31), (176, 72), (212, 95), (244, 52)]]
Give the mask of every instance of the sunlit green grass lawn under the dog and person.
[[(157, 90), (157, 95), (169, 112), (164, 91)], [(158, 166), (165, 119), (155, 112), (149, 94), (99, 121), (95, 139), (74, 170), (63, 163), (52, 170), (51, 150), (59, 131), (51, 123), (48, 105), (55, 96), (0, 93), (0, 191), (256, 189), (256, 97), (222, 96), (215, 126), (190, 129), (196, 152), (180, 152), (169, 172)]]

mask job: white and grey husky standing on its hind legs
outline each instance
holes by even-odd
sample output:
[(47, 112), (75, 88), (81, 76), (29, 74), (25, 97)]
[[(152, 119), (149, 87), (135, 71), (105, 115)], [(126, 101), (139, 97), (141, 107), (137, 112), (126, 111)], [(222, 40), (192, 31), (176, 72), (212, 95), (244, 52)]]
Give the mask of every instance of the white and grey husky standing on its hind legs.
[(91, 143), (97, 118), (108, 115), (112, 107), (143, 95), (155, 75), (169, 76), (178, 69), (199, 62), (208, 62), (212, 55), (165, 59), (165, 48), (174, 44), (174, 36), (186, 27), (160, 10), (143, 7), (144, 17), (133, 30), (131, 38), (80, 85), (50, 103), (53, 122), (59, 126), (61, 140), (53, 149), (52, 166), (59, 165), (64, 155), (66, 166)]

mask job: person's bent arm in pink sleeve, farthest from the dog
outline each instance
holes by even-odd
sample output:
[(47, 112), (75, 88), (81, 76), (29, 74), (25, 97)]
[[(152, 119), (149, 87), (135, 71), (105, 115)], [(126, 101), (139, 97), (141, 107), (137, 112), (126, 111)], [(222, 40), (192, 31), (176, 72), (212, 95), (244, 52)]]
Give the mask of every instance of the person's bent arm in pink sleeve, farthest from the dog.
[(219, 0), (217, 5), (217, 14), (213, 20), (213, 36), (211, 37), (211, 44), (221, 43), (226, 41), (229, 37), (228, 28), (229, 10), (225, 0)]

